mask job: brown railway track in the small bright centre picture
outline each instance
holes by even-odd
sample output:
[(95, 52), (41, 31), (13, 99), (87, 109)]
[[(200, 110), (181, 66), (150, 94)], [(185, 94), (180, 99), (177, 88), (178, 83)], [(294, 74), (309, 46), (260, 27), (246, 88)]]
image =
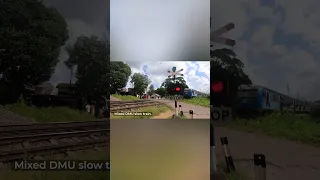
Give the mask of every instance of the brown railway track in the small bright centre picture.
[(110, 112), (121, 112), (148, 106), (159, 106), (161, 102), (151, 100), (110, 101)]

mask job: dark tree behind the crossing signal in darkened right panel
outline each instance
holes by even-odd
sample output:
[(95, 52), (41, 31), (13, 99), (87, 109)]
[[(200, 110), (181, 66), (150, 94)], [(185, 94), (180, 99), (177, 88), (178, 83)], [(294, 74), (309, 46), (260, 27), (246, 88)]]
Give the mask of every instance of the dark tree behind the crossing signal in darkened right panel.
[(238, 87), (242, 84), (251, 85), (248, 75), (243, 71), (244, 64), (230, 49), (212, 50), (210, 61), (210, 72), (212, 77), (223, 78), (229, 82), (229, 93), (231, 101), (235, 102)]

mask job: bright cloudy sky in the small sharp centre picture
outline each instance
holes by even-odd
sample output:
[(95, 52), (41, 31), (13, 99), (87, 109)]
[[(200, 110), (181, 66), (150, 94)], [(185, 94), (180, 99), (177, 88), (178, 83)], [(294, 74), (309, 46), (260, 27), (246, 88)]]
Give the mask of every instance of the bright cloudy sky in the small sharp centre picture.
[[(168, 71), (176, 67), (177, 71), (183, 69), (182, 74), (189, 88), (204, 93), (210, 93), (210, 63), (208, 61), (157, 61), (157, 62), (125, 62), (131, 67), (132, 74), (147, 75), (155, 88), (161, 86), (168, 77)], [(127, 87), (132, 87), (128, 81)]]

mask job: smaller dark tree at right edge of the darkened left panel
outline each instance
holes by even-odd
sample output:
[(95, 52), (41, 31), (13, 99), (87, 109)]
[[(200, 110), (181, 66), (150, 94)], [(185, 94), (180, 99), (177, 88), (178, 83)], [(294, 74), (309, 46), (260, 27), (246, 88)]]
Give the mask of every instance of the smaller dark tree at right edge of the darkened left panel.
[(77, 92), (85, 97), (109, 96), (109, 43), (95, 36), (80, 36), (66, 50), (69, 54), (66, 66), (77, 67)]

